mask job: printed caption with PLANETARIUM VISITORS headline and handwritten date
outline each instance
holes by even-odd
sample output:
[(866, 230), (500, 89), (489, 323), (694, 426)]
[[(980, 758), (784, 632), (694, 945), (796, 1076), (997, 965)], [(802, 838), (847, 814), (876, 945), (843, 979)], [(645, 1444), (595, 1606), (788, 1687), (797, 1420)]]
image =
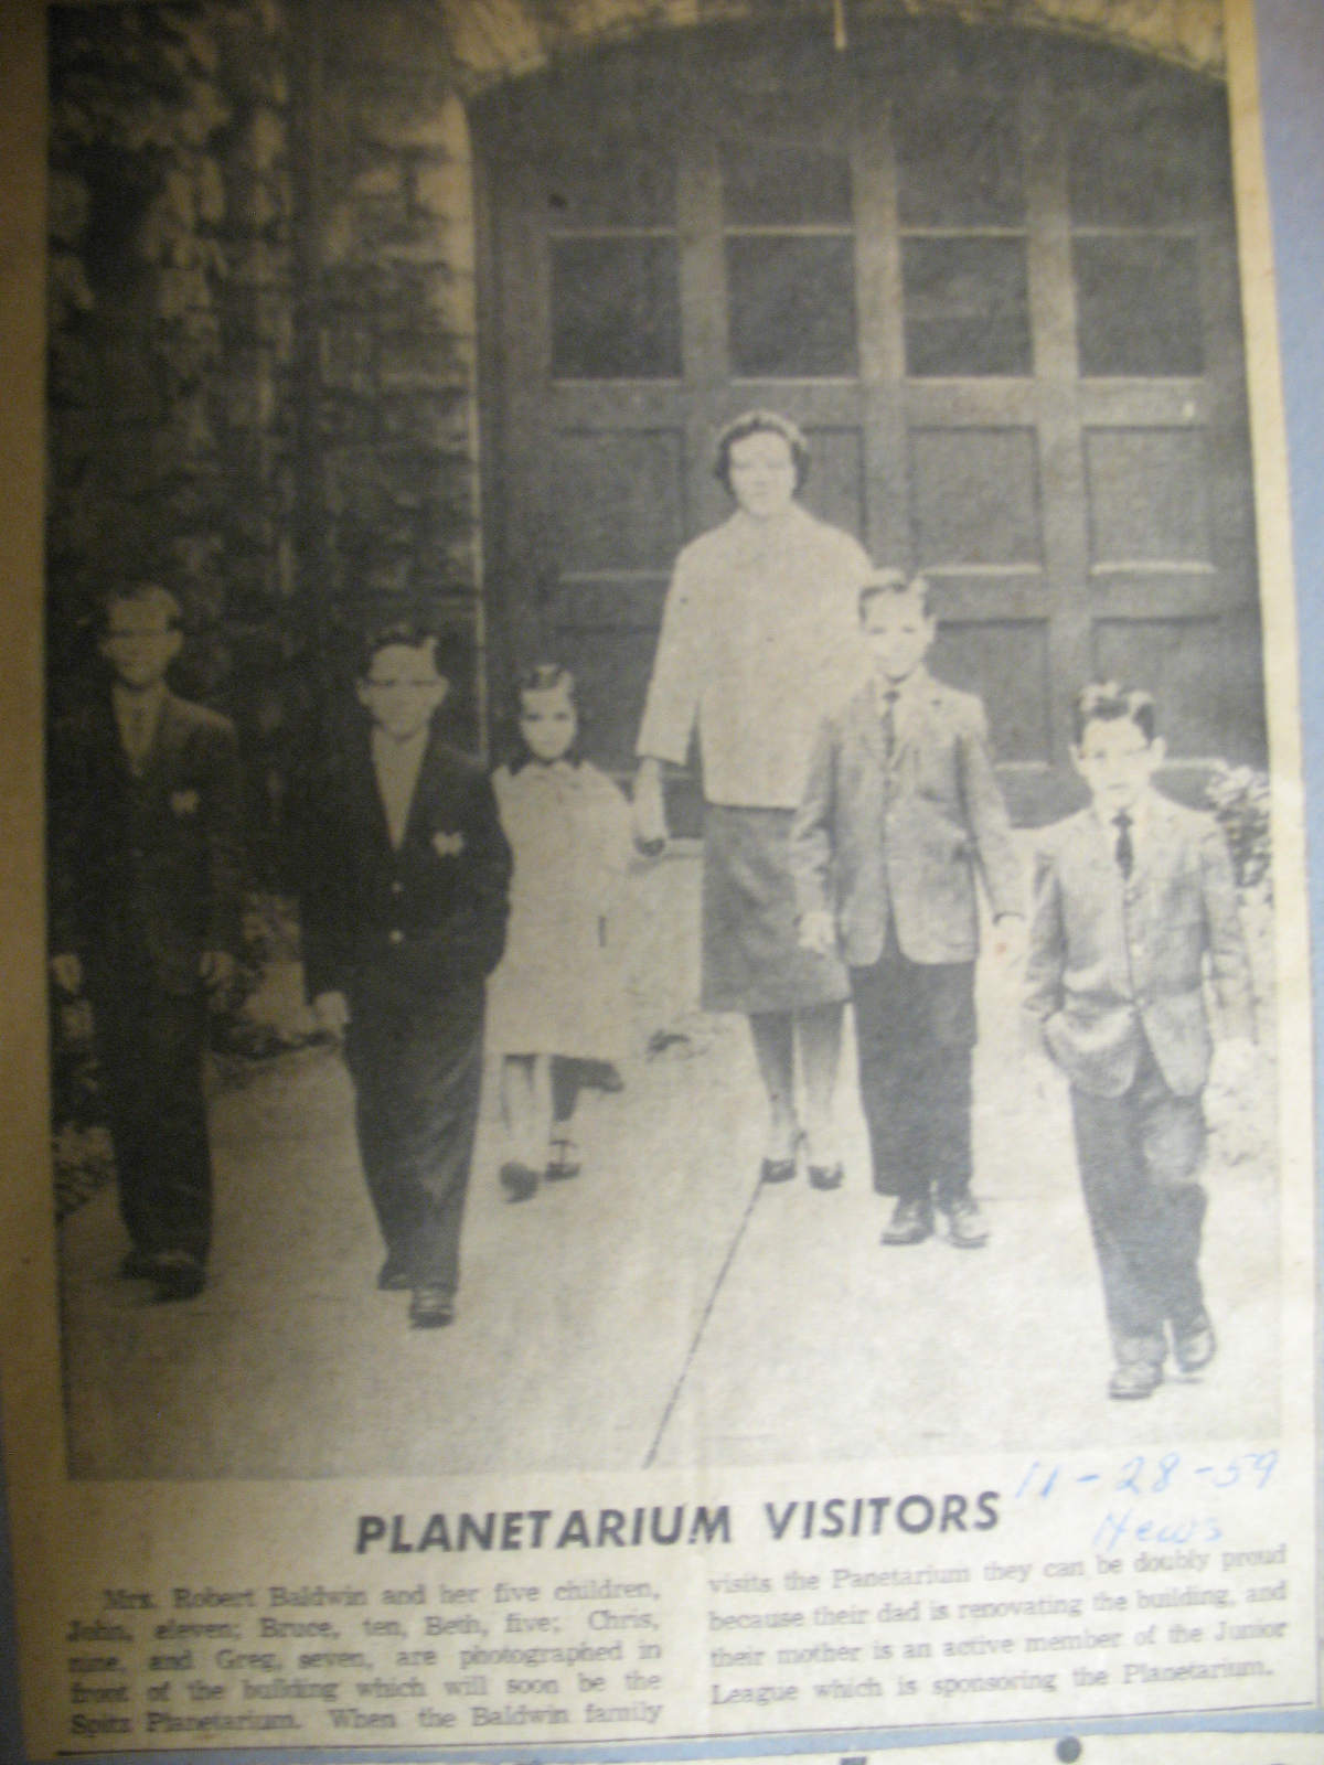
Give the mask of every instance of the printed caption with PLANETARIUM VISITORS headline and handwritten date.
[(1264, 1504), (1273, 1527), (1276, 1465), (360, 1513), (337, 1580), (88, 1594), (69, 1737), (447, 1746), (1282, 1705), (1310, 1657), (1308, 1566), (1245, 1523)]

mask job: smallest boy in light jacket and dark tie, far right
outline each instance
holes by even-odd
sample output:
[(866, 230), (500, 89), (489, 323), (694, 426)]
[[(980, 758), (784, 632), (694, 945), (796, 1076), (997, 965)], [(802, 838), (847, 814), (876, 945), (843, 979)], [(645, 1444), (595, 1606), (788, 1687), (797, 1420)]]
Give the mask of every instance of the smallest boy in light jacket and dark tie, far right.
[(1229, 1034), (1220, 1061), (1245, 1070), (1250, 967), (1218, 824), (1151, 784), (1163, 761), (1153, 699), (1086, 687), (1072, 757), (1093, 801), (1040, 842), (1026, 1006), (1072, 1085), (1117, 1359), (1109, 1394), (1147, 1398), (1169, 1329), (1183, 1373), (1215, 1354), (1197, 1267), (1213, 1052), (1202, 971), (1207, 957)]

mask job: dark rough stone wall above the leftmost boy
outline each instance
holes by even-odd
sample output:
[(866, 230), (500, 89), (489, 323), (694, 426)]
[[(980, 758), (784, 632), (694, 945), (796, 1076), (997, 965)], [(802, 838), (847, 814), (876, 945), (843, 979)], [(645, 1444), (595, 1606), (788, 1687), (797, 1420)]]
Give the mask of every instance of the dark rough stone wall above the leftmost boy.
[(260, 868), (304, 644), (286, 55), (275, 0), (51, 12), (51, 710), (106, 586), (166, 582), (178, 685), (240, 724)]

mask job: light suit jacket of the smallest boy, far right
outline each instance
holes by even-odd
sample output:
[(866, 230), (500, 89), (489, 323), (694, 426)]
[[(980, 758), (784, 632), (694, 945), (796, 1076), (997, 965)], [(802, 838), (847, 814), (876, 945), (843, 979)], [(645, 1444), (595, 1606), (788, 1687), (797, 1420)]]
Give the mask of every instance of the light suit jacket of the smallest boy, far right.
[(1026, 1008), (1073, 1085), (1130, 1089), (1144, 1040), (1177, 1096), (1209, 1075), (1204, 957), (1229, 1034), (1255, 1027), (1227, 842), (1213, 815), (1151, 792), (1123, 882), (1116, 837), (1093, 808), (1040, 838)]

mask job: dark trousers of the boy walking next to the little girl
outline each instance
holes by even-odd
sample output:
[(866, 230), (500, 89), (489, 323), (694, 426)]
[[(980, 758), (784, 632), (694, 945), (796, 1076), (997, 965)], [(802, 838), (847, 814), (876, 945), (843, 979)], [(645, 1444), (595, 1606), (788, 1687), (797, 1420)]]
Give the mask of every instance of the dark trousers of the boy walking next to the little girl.
[(482, 978), (401, 988), (360, 971), (344, 1054), (355, 1080), (358, 1156), (387, 1251), (410, 1285), (454, 1294), (482, 1089)]

